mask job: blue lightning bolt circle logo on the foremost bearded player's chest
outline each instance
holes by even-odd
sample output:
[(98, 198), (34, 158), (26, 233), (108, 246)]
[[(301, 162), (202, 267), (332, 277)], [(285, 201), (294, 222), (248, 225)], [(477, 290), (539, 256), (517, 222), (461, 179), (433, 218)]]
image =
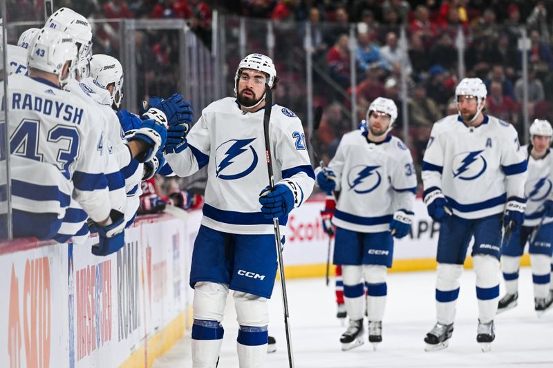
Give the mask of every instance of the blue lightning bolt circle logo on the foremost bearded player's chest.
[(215, 170), (218, 178), (223, 180), (240, 179), (254, 171), (259, 161), (254, 147), (250, 145), (254, 140), (255, 138), (231, 139), (217, 147)]

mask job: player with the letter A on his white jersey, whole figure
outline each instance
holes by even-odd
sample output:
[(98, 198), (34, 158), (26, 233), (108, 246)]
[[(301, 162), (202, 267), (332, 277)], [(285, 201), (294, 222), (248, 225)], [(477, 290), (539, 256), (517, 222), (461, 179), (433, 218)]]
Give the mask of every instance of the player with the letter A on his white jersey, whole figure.
[(523, 224), (526, 157), (511, 124), (485, 115), (487, 90), (478, 78), (456, 88), (458, 115), (432, 127), (422, 161), (424, 203), (440, 222), (436, 281), (436, 318), (427, 333), (427, 351), (443, 349), (453, 333), (459, 278), (474, 236), (478, 331), (487, 351), (495, 338), (499, 298), (502, 229)]

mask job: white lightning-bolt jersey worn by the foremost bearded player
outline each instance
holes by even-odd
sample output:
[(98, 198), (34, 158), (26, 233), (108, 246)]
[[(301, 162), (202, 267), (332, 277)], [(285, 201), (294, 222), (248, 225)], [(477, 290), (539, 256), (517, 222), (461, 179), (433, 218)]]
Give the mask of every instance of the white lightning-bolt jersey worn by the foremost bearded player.
[[(265, 108), (243, 111), (232, 97), (215, 101), (192, 126), (188, 148), (165, 155), (179, 176), (207, 165), (203, 225), (227, 233), (274, 233), (272, 220), (263, 217), (259, 204), (259, 194), (269, 184), (264, 113)], [(294, 206), (300, 206), (315, 184), (300, 119), (288, 108), (274, 104), (269, 137), (274, 181), (287, 178), (293, 182), (299, 188)], [(280, 220), (285, 225), (288, 218)]]

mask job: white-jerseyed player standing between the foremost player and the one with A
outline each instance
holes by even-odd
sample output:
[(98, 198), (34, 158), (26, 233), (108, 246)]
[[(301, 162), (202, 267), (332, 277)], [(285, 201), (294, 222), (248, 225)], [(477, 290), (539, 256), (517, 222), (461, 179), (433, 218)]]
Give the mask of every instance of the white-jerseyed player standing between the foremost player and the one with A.
[(340, 338), (342, 350), (363, 343), (364, 286), (368, 340), (375, 348), (382, 341), (393, 237), (403, 238), (411, 229), (417, 179), (409, 148), (388, 135), (396, 118), (391, 99), (375, 99), (367, 111), (367, 126), (345, 134), (328, 167), (317, 171), (323, 191), (340, 193), (332, 224), (333, 260), (341, 264), (349, 316)]

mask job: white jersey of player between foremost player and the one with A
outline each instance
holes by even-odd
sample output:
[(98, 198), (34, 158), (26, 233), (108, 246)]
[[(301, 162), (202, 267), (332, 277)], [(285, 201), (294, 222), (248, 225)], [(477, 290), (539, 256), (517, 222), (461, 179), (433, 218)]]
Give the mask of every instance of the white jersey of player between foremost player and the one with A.
[(353, 130), (342, 137), (328, 168), (340, 192), (332, 224), (377, 233), (389, 229), (395, 211), (413, 211), (417, 177), (401, 139), (388, 135), (374, 143), (362, 130)]

